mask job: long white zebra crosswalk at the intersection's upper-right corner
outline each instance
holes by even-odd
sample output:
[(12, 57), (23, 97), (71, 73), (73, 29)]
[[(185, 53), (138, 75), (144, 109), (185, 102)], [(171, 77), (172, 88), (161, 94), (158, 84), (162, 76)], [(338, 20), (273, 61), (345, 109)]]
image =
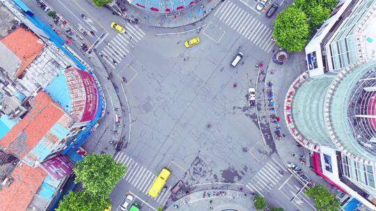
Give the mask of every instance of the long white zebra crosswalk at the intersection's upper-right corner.
[(267, 53), (274, 47), (274, 41), (272, 41), (273, 30), (232, 1), (222, 3), (217, 11), (214, 12), (214, 16)]

